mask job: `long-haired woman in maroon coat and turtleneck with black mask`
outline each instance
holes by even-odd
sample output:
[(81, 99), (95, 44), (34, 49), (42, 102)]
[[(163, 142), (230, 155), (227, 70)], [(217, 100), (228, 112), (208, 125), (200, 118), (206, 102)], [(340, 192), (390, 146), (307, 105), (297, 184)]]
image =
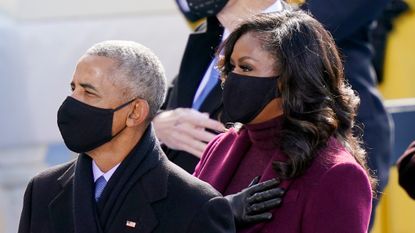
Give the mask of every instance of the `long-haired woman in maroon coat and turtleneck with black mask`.
[(208, 145), (194, 175), (224, 195), (257, 176), (282, 179), (272, 220), (240, 232), (366, 232), (375, 180), (330, 34), (301, 11), (261, 14), (221, 52), (224, 114), (239, 123)]

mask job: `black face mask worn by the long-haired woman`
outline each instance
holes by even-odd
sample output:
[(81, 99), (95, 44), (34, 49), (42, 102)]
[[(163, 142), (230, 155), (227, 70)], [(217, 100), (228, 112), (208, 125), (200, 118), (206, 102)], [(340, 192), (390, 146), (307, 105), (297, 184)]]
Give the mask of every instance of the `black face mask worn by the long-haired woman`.
[(278, 77), (229, 73), (223, 85), (223, 107), (232, 122), (251, 122), (271, 100), (280, 96)]

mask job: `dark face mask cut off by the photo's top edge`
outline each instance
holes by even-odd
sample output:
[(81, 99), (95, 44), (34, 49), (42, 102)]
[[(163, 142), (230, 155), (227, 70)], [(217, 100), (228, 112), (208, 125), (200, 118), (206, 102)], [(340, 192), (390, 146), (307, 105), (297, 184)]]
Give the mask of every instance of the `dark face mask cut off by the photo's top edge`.
[(213, 16), (219, 13), (222, 8), (228, 3), (228, 0), (184, 0), (189, 6), (189, 10), (186, 11), (182, 8), (179, 3), (179, 0), (176, 0), (177, 5), (180, 8), (180, 11), (183, 15), (190, 21), (194, 22), (196, 20)]

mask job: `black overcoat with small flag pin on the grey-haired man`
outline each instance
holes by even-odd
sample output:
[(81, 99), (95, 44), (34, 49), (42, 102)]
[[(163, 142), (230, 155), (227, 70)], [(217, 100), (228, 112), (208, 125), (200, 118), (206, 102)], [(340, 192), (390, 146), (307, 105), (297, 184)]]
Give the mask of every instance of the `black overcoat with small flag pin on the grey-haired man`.
[[(121, 168), (128, 167), (127, 159), (128, 163), (138, 161), (138, 166), (125, 177), (129, 170)], [(80, 154), (77, 161), (34, 177), (25, 193), (19, 233), (235, 231), (227, 201), (168, 161), (152, 130), (147, 130), (109, 180), (101, 196), (113, 203), (108, 208), (100, 202), (85, 202), (93, 199), (90, 165), (89, 156)], [(135, 227), (127, 226), (132, 222)]]

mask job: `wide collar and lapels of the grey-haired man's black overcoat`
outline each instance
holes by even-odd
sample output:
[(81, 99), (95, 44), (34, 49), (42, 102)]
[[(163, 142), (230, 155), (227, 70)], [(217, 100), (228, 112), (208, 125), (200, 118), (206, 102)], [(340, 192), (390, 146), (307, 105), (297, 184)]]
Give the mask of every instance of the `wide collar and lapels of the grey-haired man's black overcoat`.
[[(131, 155), (143, 157), (143, 160), (117, 196), (113, 208), (118, 211), (109, 212), (108, 221), (103, 227), (106, 232), (150, 233), (158, 225), (152, 203), (167, 197), (168, 174), (163, 166), (166, 158), (155, 138), (152, 126), (146, 131), (137, 148)], [(77, 214), (77, 206), (74, 203), (74, 195), (77, 190), (74, 180), (77, 165), (78, 163), (74, 162), (57, 179), (61, 191), (49, 203), (50, 218), (55, 232), (69, 233), (74, 232), (76, 228), (74, 216)], [(94, 219), (85, 221), (95, 222)], [(100, 231), (97, 229), (97, 232)]]

